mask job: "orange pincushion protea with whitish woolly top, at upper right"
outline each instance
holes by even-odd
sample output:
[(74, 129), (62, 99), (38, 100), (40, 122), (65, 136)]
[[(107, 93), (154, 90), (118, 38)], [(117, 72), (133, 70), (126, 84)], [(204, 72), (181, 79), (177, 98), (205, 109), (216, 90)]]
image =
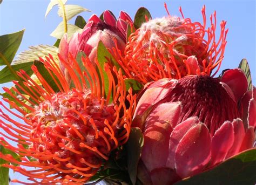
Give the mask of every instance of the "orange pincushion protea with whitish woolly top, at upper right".
[(180, 12), (183, 18), (168, 12), (166, 17), (148, 20), (130, 35), (125, 57), (117, 56), (127, 76), (146, 84), (161, 78), (210, 74), (221, 64), (226, 45), (226, 22), (220, 23), (220, 37), (215, 40), (215, 11), (210, 18), (210, 28), (206, 28), (205, 6), (203, 24), (184, 18), (181, 8)]

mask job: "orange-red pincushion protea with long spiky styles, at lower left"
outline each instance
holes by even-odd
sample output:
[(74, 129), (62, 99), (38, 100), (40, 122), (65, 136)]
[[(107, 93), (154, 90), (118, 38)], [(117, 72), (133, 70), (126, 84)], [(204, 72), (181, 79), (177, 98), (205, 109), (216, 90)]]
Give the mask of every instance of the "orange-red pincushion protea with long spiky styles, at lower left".
[[(1, 109), (3, 136), (0, 138), (0, 145), (21, 156), (15, 159), (0, 152), (0, 158), (20, 165), (5, 163), (2, 167), (28, 176), (35, 183), (82, 184), (97, 173), (104, 161), (109, 159), (113, 149), (127, 141), (135, 97), (131, 90), (126, 97), (122, 73), (116, 67), (111, 70), (109, 65), (104, 65), (109, 86), (109, 91), (105, 93), (106, 79), (103, 78), (103, 70), (97, 60), (100, 76), (88, 58), (82, 59), (87, 72), (79, 68), (71, 54), (69, 61), (61, 57), (60, 60), (68, 69), (75, 88), (69, 87), (64, 74), (51, 56), (45, 61), (42, 59), (42, 62), (59, 92), (53, 91), (36, 66), (32, 66), (32, 70), (42, 86), (21, 71), (18, 75), (24, 80), (25, 87), (16, 81), (14, 83), (20, 90), (13, 87), (19, 97), (31, 105), (25, 104), (16, 94), (4, 88), (29, 113), (14, 102), (4, 99), (22, 115), (15, 113), (0, 101), (2, 107), (12, 114), (9, 117)], [(25, 97), (21, 90), (30, 98)], [(10, 141), (17, 143), (17, 146), (11, 145)]]

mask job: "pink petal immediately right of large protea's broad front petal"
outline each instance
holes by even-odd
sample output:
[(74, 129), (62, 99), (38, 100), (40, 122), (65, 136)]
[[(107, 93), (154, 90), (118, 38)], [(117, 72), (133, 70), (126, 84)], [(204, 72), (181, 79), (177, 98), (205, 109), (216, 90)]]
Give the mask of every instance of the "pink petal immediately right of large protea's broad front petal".
[(233, 146), (234, 129), (230, 121), (225, 121), (223, 125), (215, 132), (212, 138), (212, 159), (211, 165), (223, 161)]

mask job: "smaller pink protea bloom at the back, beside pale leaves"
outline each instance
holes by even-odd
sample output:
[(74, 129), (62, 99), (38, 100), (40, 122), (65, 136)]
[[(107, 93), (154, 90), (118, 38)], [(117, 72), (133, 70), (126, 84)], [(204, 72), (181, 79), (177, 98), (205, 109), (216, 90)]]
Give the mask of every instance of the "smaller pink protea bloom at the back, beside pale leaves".
[(108, 49), (117, 45), (118, 49), (123, 52), (126, 44), (127, 25), (133, 25), (132, 19), (126, 12), (121, 11), (119, 18), (116, 20), (108, 10), (104, 11), (103, 18), (104, 21), (96, 15), (92, 15), (82, 33), (75, 33), (69, 42), (68, 36), (64, 35), (59, 44), (60, 55), (65, 59), (68, 53), (76, 57), (79, 51), (84, 51), (86, 56), (94, 63), (100, 40)]

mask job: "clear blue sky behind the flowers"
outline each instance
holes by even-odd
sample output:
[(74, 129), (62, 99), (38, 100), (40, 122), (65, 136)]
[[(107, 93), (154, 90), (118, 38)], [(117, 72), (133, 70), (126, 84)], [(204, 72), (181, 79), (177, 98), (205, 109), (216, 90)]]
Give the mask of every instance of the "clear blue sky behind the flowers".
[[(49, 36), (62, 20), (57, 15), (57, 7), (44, 19), (45, 10), (50, 0), (3, 0), (0, 5), (0, 35), (16, 32), (25, 28), (24, 37), (18, 53), (28, 49), (28, 46), (38, 44), (55, 43), (56, 39)], [(150, 10), (152, 17), (163, 17), (166, 15), (164, 2), (167, 3), (171, 15), (180, 16), (179, 5), (183, 9), (185, 17), (192, 21), (202, 22), (201, 8), (206, 5), (206, 16), (210, 22), (210, 14), (217, 11), (217, 22), (227, 20), (229, 28), (225, 58), (221, 70), (235, 68), (242, 58), (246, 58), (250, 64), (253, 84), (256, 82), (255, 64), (255, 1), (97, 1), (97, 0), (68, 0), (67, 4), (77, 4), (92, 10), (92, 13), (100, 15), (104, 10), (109, 9), (118, 17), (119, 11), (128, 12), (134, 17), (140, 6)], [(87, 20), (91, 12), (84, 12), (81, 15)], [(74, 20), (71, 20), (74, 22)], [(217, 31), (217, 36), (219, 30)], [(4, 44), (4, 43), (0, 43)], [(3, 86), (0, 84), (0, 87)], [(22, 178), (15, 173), (16, 178)], [(23, 178), (22, 178), (23, 179)]]

